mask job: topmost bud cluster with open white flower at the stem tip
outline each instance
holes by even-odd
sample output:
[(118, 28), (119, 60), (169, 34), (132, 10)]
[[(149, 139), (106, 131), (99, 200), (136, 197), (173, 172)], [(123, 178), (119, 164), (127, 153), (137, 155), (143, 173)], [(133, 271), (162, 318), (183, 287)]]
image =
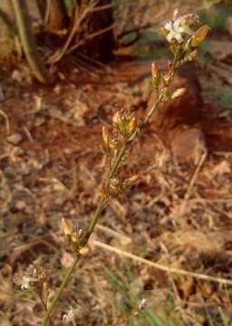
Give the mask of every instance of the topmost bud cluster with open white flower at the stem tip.
[(169, 85), (173, 82), (175, 70), (198, 56), (198, 45), (204, 41), (208, 31), (208, 25), (203, 25), (197, 14), (183, 14), (178, 17), (177, 11), (174, 13), (173, 20), (161, 28), (174, 54), (174, 60), (169, 62), (169, 71), (165, 74), (160, 72), (156, 62), (151, 65), (152, 84), (162, 101), (177, 99), (185, 92), (184, 88), (180, 88), (171, 93)]

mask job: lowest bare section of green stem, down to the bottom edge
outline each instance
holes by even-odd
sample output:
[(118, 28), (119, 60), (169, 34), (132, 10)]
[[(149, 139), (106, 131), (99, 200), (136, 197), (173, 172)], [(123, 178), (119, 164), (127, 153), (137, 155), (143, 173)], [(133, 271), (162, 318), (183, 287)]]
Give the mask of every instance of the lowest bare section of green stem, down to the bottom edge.
[(70, 280), (70, 278), (71, 278), (71, 276), (73, 274), (73, 271), (74, 271), (74, 269), (76, 267), (76, 264), (80, 261), (80, 258), (81, 258), (81, 254), (77, 254), (75, 259), (73, 260), (72, 266), (68, 269), (66, 275), (64, 276), (63, 283), (61, 284), (61, 286), (59, 287), (59, 289), (56, 292), (55, 296), (53, 297), (53, 301), (51, 302), (47, 312), (45, 313), (45, 315), (43, 317), (42, 326), (46, 326), (48, 324), (48, 321), (50, 320), (53, 309), (55, 308), (57, 302), (59, 301), (60, 296), (63, 293), (63, 289), (65, 288), (65, 286), (69, 282), (69, 280)]

